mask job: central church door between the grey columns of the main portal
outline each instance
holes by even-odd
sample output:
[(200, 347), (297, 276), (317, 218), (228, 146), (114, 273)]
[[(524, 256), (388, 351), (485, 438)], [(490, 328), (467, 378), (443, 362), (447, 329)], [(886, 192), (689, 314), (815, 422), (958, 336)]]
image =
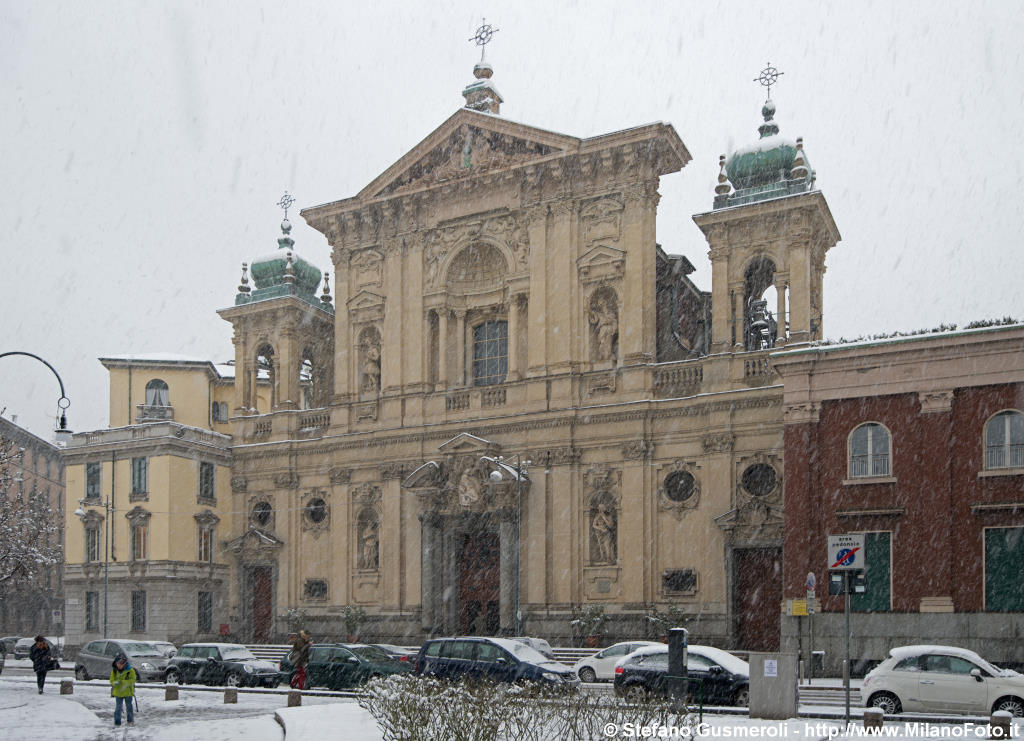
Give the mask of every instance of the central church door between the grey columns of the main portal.
[(462, 536), (459, 558), (459, 631), (464, 636), (495, 636), (501, 626), (501, 570), (498, 533)]

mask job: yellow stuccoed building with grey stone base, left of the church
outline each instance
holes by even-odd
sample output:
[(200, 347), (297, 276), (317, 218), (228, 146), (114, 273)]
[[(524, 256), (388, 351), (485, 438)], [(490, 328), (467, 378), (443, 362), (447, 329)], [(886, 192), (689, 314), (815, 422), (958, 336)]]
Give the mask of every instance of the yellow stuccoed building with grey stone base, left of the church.
[(68, 645), (212, 638), (227, 624), (233, 368), (161, 354), (100, 362), (110, 429), (63, 451)]

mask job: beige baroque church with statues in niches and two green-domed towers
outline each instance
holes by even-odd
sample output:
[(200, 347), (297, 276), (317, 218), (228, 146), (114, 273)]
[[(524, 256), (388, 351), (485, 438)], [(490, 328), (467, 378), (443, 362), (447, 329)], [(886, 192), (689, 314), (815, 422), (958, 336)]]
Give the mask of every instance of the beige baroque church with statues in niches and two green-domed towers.
[[(246, 641), (609, 638), (685, 613), (778, 647), (782, 389), (822, 337), (840, 239), (769, 99), (722, 158), (711, 291), (655, 241), (669, 124), (578, 138), (510, 121), (481, 61), (457, 111), (358, 193), (301, 211), (332, 248), (243, 267), (232, 306), (226, 617)], [(752, 138), (754, 132), (752, 131)], [(299, 246), (301, 247), (301, 246)], [(323, 277), (323, 280), (322, 280)], [(258, 392), (258, 393), (257, 393)], [(348, 609), (346, 609), (348, 608)]]

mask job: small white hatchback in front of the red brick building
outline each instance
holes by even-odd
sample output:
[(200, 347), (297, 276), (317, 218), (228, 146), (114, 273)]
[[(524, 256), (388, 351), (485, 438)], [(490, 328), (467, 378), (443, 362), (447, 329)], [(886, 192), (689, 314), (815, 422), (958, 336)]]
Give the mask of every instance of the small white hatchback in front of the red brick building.
[(860, 688), (865, 707), (886, 714), (955, 712), (1024, 715), (1024, 677), (1000, 669), (974, 651), (954, 646), (901, 646), (867, 672)]

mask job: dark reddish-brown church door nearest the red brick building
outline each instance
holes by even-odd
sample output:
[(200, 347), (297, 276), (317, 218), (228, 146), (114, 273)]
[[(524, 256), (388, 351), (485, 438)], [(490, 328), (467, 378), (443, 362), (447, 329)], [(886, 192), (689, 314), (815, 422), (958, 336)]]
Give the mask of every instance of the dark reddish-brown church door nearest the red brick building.
[(782, 603), (781, 550), (736, 550), (733, 551), (732, 563), (736, 648), (778, 651)]

